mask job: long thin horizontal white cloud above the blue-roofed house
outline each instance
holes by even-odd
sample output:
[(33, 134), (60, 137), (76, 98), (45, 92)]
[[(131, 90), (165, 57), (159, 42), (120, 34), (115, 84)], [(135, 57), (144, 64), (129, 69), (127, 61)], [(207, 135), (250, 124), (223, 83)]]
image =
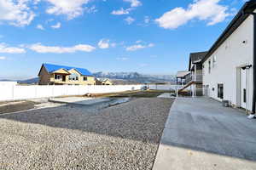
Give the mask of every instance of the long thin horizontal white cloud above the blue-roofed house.
[(96, 48), (86, 44), (79, 44), (73, 47), (58, 47), (58, 46), (44, 46), (40, 43), (32, 44), (29, 47), (31, 50), (38, 52), (38, 53), (55, 53), (55, 54), (64, 54), (64, 53), (75, 53), (75, 52), (91, 52)]

